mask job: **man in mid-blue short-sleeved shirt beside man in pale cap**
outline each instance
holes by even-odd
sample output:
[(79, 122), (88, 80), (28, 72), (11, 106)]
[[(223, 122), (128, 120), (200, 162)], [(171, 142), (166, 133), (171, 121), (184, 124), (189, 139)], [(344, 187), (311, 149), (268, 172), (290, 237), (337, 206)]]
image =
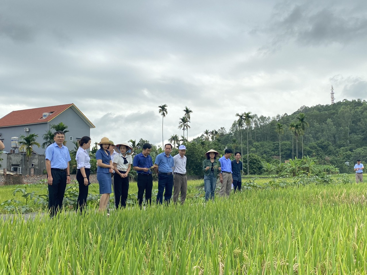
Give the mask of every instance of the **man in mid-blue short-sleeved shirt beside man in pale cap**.
[(157, 193), (157, 204), (162, 204), (163, 190), (164, 191), (164, 202), (168, 205), (172, 196), (173, 188), (173, 169), (174, 161), (171, 156), (172, 144), (168, 143), (164, 145), (164, 152), (156, 156), (154, 164), (154, 170), (158, 172), (158, 193)]

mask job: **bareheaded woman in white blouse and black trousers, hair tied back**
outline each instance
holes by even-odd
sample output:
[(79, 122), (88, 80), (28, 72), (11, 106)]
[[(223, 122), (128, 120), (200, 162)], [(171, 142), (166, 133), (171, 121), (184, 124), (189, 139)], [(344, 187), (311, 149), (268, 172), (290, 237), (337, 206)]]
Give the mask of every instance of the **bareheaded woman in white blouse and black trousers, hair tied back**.
[(76, 163), (77, 163), (77, 173), (76, 173), (76, 180), (79, 183), (79, 196), (77, 202), (77, 209), (76, 211), (83, 212), (84, 207), (87, 204), (87, 196), (88, 196), (88, 185), (89, 182), (89, 175), (90, 175), (90, 156), (87, 152), (87, 149), (91, 146), (91, 138), (84, 136), (79, 141), (79, 148), (76, 152)]

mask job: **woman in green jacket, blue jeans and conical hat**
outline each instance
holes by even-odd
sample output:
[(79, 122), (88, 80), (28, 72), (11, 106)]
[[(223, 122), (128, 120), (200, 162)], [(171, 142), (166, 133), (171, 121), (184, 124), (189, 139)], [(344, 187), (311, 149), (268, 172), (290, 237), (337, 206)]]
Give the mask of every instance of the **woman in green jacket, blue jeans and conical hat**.
[(221, 171), (221, 163), (217, 160), (219, 153), (210, 149), (205, 153), (203, 160), (205, 200), (214, 200), (214, 191), (217, 184), (217, 174)]

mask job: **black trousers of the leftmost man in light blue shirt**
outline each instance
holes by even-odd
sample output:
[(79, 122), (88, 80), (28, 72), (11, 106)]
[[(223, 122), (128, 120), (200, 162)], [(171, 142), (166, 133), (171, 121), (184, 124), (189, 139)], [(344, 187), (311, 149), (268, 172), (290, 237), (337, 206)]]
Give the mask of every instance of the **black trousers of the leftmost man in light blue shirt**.
[(52, 185), (48, 185), (48, 211), (54, 217), (62, 207), (66, 188), (66, 170), (61, 172), (51, 168)]

